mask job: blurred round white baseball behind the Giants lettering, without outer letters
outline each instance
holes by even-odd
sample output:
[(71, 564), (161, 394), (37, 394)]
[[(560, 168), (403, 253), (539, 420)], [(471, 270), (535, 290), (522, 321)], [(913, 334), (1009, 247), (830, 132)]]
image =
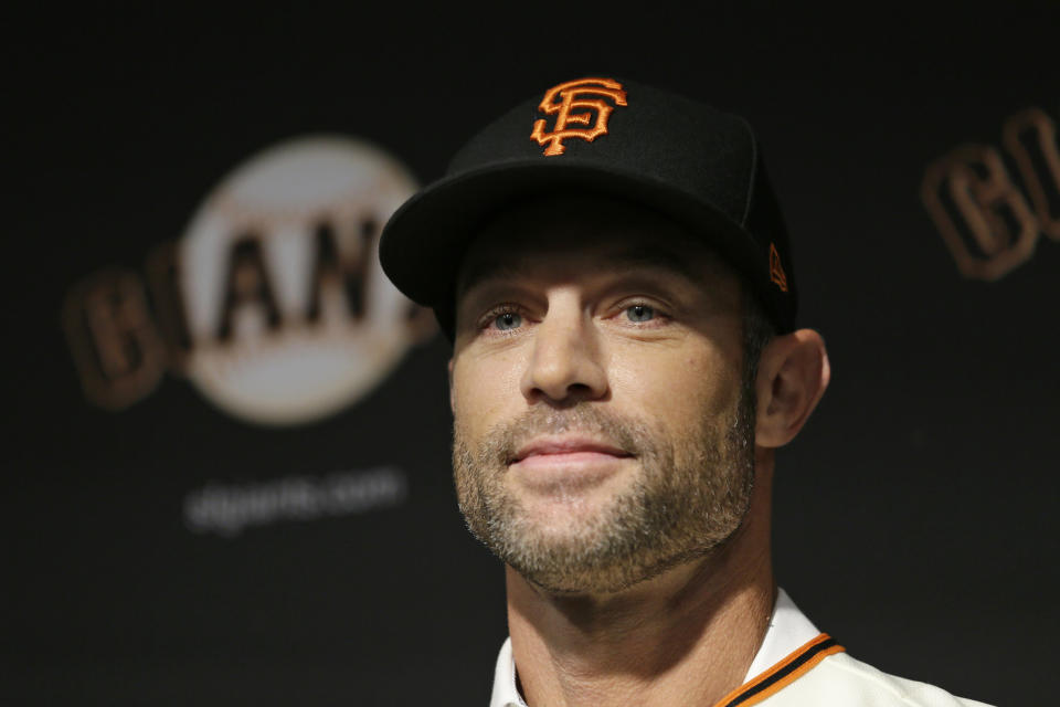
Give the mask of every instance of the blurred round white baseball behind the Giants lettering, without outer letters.
[(195, 387), (233, 415), (283, 425), (380, 383), (430, 333), (377, 256), (415, 188), (392, 157), (340, 137), (279, 144), (225, 177), (178, 245)]

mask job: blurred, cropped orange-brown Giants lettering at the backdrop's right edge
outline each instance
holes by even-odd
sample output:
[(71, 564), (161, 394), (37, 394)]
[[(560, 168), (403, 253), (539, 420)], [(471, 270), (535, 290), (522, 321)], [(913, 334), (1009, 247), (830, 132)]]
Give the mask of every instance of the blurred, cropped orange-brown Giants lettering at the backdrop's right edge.
[(1001, 131), (1018, 178), (990, 145), (964, 145), (932, 162), (921, 199), (965, 277), (993, 281), (1034, 255), (1040, 234), (1060, 241), (1060, 151), (1038, 108)]

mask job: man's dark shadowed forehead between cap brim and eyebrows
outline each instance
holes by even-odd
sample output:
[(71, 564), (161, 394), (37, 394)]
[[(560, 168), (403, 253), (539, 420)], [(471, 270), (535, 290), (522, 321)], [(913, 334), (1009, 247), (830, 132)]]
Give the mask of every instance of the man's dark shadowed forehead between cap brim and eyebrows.
[(479, 229), (462, 264), (458, 294), (484, 279), (577, 276), (602, 267), (731, 279), (711, 249), (655, 211), (603, 197), (550, 197), (512, 205)]

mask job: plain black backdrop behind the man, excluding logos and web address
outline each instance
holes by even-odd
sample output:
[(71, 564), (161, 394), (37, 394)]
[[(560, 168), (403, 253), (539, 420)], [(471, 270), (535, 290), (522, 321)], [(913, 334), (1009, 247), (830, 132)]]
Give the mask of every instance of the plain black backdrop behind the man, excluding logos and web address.
[[(441, 337), (339, 413), (269, 428), (178, 372), (123, 410), (89, 402), (61, 313), (97, 273), (142, 274), (225, 173), (283, 139), (354, 136), (426, 181), (486, 119), (596, 72), (741, 113), (766, 146), (802, 323), (834, 366), (780, 455), (781, 584), (883, 671), (1043, 704), (1060, 188), (1047, 140), (1046, 210), (1028, 222), (1013, 204), (1034, 205), (1032, 188), (1003, 130), (1032, 107), (1058, 118), (1056, 3), (645, 13), (56, 9), (7, 23), (6, 704), (486, 704), (502, 577), (449, 487)], [(921, 196), (929, 167), (973, 144), (1021, 197), (957, 158), (934, 192), (974, 264), (1024, 244), (989, 281), (962, 274)], [(962, 184), (1000, 207), (986, 210), (996, 242), (974, 240)], [(1013, 235), (1022, 226), (1032, 239)], [(227, 536), (188, 521), (211, 484), (382, 467), (404, 490), (363, 511)]]

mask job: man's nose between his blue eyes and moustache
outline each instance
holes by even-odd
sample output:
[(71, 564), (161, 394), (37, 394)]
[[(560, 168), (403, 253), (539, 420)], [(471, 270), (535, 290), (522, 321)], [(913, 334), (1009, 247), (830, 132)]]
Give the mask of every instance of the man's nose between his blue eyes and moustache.
[(534, 327), (520, 388), (531, 403), (596, 400), (607, 393), (598, 340), (574, 293), (549, 298), (549, 310)]

